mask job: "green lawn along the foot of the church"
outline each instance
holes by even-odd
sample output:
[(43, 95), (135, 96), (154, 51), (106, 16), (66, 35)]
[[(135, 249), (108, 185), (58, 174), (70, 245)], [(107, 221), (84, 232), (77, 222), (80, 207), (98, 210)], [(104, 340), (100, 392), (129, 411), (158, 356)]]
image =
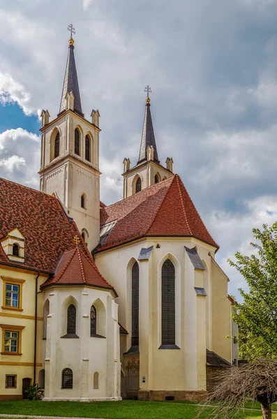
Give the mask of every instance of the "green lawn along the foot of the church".
[[(67, 416), (102, 419), (195, 419), (198, 407), (186, 403), (170, 402), (0, 402), (0, 413), (40, 416)], [(207, 418), (202, 413), (201, 419)], [(240, 418), (261, 419), (259, 411), (241, 411)], [(273, 416), (277, 419), (277, 414)]]

